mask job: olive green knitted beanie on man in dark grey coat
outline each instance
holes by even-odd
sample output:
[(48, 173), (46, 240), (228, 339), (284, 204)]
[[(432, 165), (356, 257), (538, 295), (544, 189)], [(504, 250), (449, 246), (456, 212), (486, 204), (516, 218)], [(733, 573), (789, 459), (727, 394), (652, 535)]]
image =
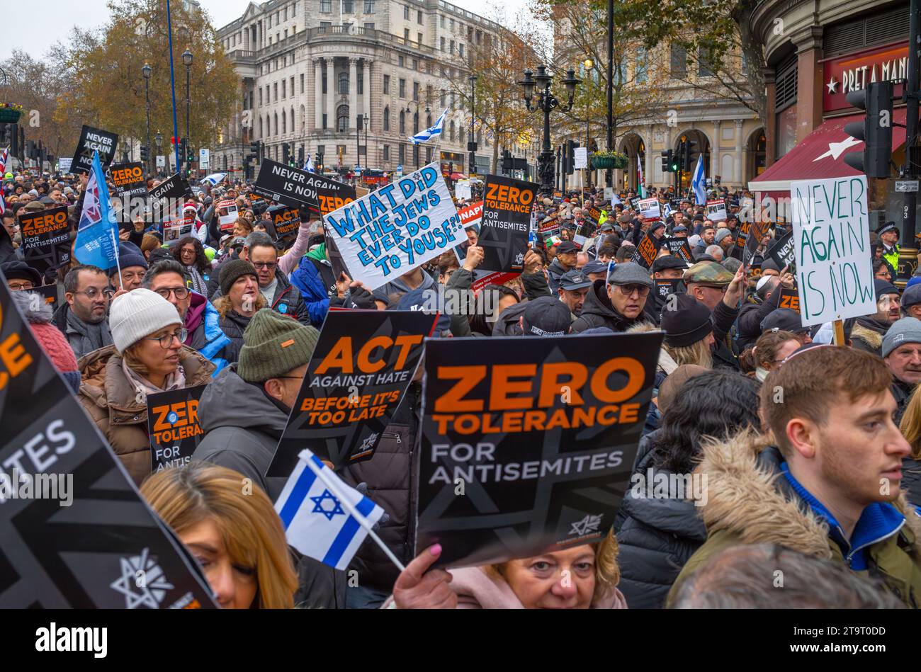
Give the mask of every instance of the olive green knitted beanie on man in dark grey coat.
[(307, 364), (320, 331), (297, 319), (262, 308), (243, 331), (237, 374), (248, 383), (264, 383)]

